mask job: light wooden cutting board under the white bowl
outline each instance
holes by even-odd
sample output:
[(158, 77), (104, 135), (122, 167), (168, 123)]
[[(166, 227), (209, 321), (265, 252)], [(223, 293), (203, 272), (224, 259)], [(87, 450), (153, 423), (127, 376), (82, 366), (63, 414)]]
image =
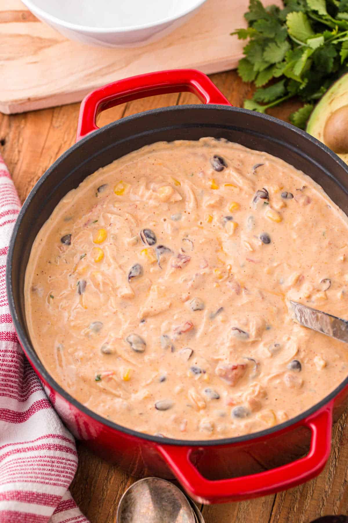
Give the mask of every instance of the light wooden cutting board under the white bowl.
[(209, 74), (234, 69), (245, 41), (230, 32), (246, 25), (248, 3), (207, 0), (185, 25), (158, 42), (109, 49), (70, 41), (20, 0), (0, 0), (0, 111), (69, 104), (95, 87), (150, 71), (194, 67)]

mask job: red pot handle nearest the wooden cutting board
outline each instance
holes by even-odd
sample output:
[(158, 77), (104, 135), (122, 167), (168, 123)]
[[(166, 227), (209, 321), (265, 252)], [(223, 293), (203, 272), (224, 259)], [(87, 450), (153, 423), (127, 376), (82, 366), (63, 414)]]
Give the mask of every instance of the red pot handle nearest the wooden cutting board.
[(105, 109), (137, 98), (183, 91), (194, 93), (205, 104), (231, 105), (208, 76), (195, 69), (173, 69), (131, 76), (95, 89), (83, 98), (76, 141), (99, 129), (95, 120)]

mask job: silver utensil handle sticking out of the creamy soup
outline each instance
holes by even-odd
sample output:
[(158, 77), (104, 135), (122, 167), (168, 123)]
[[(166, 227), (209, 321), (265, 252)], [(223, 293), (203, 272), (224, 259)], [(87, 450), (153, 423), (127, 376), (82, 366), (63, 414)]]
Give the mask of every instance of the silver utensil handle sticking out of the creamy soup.
[(347, 320), (312, 309), (296, 301), (290, 301), (290, 309), (294, 313), (295, 320), (304, 327), (312, 328), (314, 331), (339, 339), (340, 342), (348, 343)]

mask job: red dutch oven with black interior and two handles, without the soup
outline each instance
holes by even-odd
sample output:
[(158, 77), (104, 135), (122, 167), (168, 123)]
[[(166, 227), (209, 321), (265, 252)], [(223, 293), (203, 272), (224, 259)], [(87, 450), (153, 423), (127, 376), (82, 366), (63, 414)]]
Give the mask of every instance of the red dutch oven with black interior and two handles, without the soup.
[[(195, 93), (206, 105), (149, 110), (101, 129), (95, 124), (100, 111), (117, 104), (182, 91)], [(97, 89), (82, 101), (77, 143), (40, 178), (19, 213), (8, 252), (6, 285), (20, 344), (71, 432), (131, 474), (176, 477), (198, 502), (222, 503), (285, 490), (319, 474), (330, 454), (332, 422), (346, 404), (348, 378), (306, 412), (255, 434), (209, 441), (149, 436), (95, 414), (54, 381), (31, 345), (23, 299), (34, 238), (69, 190), (143, 145), (206, 136), (279, 156), (311, 176), (348, 213), (347, 165), (309, 134), (270, 116), (232, 107), (199, 71), (135, 76)]]

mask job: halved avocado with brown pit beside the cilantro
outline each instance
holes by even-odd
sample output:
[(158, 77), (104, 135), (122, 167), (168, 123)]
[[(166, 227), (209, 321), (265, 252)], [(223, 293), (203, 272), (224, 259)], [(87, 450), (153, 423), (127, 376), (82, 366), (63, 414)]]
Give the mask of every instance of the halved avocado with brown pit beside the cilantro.
[(310, 115), (306, 131), (348, 164), (348, 73), (320, 99)]

